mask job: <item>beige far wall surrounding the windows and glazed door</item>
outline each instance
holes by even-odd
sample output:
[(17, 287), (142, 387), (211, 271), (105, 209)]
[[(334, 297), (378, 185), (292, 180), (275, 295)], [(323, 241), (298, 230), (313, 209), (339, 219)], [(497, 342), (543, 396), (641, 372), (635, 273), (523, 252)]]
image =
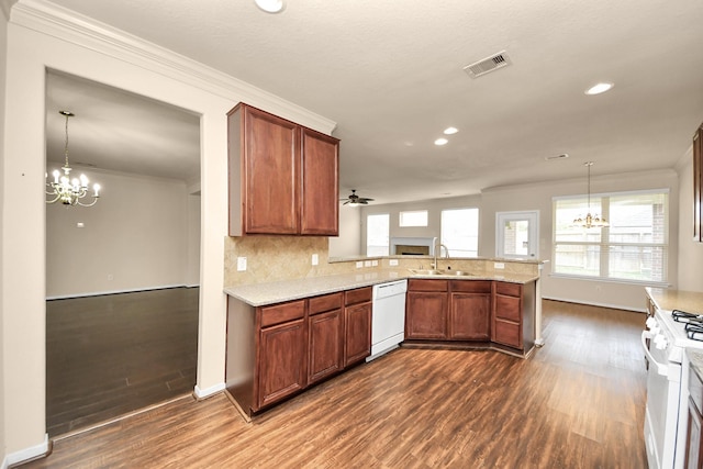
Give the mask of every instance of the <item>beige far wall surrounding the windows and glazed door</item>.
[[(692, 178), (692, 176), (691, 176)], [(551, 256), (553, 197), (582, 194), (585, 180), (565, 180), (535, 185), (490, 189), (480, 197), (435, 199), (364, 208), (361, 220), (362, 244), (366, 244), (366, 216), (372, 213), (391, 214), (391, 236), (439, 236), (440, 212), (444, 209), (479, 208), (479, 256), (495, 257), (495, 214), (507, 211), (539, 211), (539, 253), (543, 260)], [(679, 187), (673, 170), (628, 172), (623, 175), (593, 176), (591, 192), (616, 192), (628, 190), (669, 189), (669, 281), (677, 286), (677, 231), (679, 226)], [(398, 213), (403, 210), (428, 210), (428, 226), (401, 228)], [(627, 284), (612, 281), (577, 280), (553, 277), (550, 264), (542, 273), (543, 298), (596, 304), (626, 310), (644, 311), (645, 284)]]

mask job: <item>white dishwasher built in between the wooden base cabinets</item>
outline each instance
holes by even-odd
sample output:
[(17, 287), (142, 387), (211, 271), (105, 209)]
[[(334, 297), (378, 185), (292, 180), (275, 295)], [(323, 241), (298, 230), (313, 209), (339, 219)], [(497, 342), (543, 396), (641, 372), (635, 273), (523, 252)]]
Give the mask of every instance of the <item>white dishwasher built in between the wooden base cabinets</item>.
[(398, 348), (405, 338), (405, 292), (408, 280), (398, 280), (373, 286), (373, 310), (371, 314), (371, 361)]

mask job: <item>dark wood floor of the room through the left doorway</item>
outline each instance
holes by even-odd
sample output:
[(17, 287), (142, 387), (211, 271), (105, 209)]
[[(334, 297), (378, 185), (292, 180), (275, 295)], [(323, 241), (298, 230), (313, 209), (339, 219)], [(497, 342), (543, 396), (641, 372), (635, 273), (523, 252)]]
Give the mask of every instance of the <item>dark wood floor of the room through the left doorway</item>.
[(51, 437), (196, 386), (198, 288), (46, 302), (46, 425)]

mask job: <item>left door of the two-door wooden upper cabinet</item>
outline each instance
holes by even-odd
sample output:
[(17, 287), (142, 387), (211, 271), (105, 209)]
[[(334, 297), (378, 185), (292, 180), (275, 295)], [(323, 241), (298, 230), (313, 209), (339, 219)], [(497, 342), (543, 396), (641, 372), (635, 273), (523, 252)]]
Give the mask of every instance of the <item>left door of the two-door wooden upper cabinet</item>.
[(300, 127), (255, 108), (243, 110), (245, 232), (298, 233)]

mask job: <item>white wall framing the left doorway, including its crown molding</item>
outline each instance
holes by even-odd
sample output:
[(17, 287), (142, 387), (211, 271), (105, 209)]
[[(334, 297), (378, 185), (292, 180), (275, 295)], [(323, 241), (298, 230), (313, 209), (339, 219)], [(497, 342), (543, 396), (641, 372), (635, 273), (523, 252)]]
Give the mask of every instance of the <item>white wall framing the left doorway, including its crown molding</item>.
[[(224, 387), (227, 226), (226, 112), (239, 101), (331, 133), (334, 122), (167, 51), (121, 41), (42, 1), (19, 2), (8, 25), (2, 148), (3, 455), (45, 447), (44, 202), (46, 68), (156, 99), (201, 116), (201, 269), (196, 392)], [(105, 190), (108, 186), (105, 185)], [(107, 197), (107, 193), (105, 193)], [(41, 451), (40, 451), (41, 453)], [(30, 455), (31, 456), (31, 455)]]

